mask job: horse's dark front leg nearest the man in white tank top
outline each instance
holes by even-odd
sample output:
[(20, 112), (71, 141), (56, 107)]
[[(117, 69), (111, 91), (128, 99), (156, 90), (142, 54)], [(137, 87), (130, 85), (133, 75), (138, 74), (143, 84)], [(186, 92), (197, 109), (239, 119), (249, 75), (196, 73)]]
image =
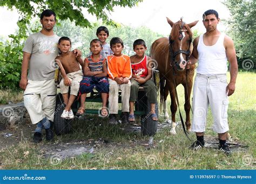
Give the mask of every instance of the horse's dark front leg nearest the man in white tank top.
[(191, 95), (191, 90), (192, 90), (192, 82), (187, 82), (187, 84), (183, 84), (184, 87), (184, 93), (185, 93), (185, 104), (184, 104), (184, 109), (186, 112), (186, 129), (188, 132), (191, 131), (191, 122), (190, 122), (190, 95)]

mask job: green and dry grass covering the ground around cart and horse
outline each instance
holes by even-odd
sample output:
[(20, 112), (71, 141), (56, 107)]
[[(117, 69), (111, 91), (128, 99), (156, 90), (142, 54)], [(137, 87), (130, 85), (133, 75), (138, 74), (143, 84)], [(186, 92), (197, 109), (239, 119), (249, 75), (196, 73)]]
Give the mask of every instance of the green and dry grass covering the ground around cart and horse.
[[(177, 129), (176, 136), (170, 135), (169, 129), (163, 129), (154, 136), (156, 146), (146, 149), (141, 143), (147, 143), (149, 137), (124, 132), (120, 125), (109, 126), (107, 119), (89, 115), (86, 119), (73, 121), (73, 132), (55, 137), (54, 144), (98, 138), (109, 141), (108, 144), (96, 148), (95, 153), (85, 153), (62, 160), (59, 164), (51, 164), (50, 158), (43, 157), (41, 146), (52, 143), (44, 141), (36, 145), (24, 140), (0, 151), (0, 162), (4, 169), (255, 169), (252, 162), (256, 156), (255, 76), (255, 73), (240, 72), (235, 93), (229, 97), (230, 134), (248, 146), (247, 151), (234, 152), (230, 157), (213, 148), (204, 148), (198, 152), (189, 150), (191, 142), (181, 128)], [(178, 86), (178, 94), (180, 104), (183, 104), (184, 92), (181, 86)], [(170, 100), (168, 103), (170, 105)], [(185, 117), (183, 105), (181, 106)], [(211, 112), (208, 112), (205, 135), (217, 138), (217, 134), (210, 129), (212, 117)], [(163, 117), (160, 117), (160, 122), (163, 121)], [(193, 133), (190, 137), (195, 138)], [(26, 152), (29, 154), (26, 155)], [(246, 161), (247, 158), (251, 161)]]

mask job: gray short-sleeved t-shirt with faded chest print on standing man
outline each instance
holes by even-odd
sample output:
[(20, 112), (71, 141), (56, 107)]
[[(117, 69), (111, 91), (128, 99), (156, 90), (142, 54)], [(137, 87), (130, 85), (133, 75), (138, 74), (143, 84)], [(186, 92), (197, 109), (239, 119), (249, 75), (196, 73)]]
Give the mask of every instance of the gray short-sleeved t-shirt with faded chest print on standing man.
[(59, 37), (46, 36), (41, 32), (31, 34), (25, 41), (23, 52), (31, 54), (29, 80), (51, 80), (55, 75), (55, 58), (59, 53)]

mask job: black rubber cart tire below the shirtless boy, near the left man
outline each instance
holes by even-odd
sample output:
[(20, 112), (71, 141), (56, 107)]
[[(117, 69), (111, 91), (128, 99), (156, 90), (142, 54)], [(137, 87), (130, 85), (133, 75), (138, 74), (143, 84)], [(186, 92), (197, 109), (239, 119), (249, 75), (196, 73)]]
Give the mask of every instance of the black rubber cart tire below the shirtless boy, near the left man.
[(62, 112), (65, 108), (63, 103), (62, 94), (58, 93), (56, 97), (56, 107), (55, 107), (55, 114), (54, 114), (54, 123), (53, 123), (53, 130), (56, 135), (64, 135), (69, 133), (71, 130), (71, 122), (72, 119), (63, 119), (60, 117)]

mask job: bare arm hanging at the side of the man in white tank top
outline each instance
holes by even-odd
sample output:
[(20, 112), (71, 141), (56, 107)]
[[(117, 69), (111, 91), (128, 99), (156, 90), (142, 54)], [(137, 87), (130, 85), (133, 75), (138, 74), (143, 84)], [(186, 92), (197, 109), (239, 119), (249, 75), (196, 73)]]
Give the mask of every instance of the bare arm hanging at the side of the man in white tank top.
[(234, 93), (235, 81), (237, 80), (238, 64), (237, 55), (235, 54), (235, 48), (233, 40), (230, 37), (225, 37), (224, 46), (226, 48), (226, 55), (228, 62), (230, 62), (230, 83), (227, 84), (227, 96)]

